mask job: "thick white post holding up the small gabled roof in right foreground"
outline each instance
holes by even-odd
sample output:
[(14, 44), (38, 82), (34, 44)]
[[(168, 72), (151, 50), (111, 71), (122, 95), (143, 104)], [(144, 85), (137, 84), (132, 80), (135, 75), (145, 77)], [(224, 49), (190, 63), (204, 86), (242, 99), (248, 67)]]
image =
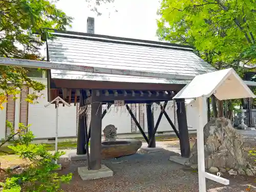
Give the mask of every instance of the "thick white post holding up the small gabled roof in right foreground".
[(197, 100), (199, 108), (199, 126), (197, 130), (199, 192), (206, 192), (206, 182), (204, 174), (204, 125), (207, 123), (207, 103), (205, 97), (198, 97)]

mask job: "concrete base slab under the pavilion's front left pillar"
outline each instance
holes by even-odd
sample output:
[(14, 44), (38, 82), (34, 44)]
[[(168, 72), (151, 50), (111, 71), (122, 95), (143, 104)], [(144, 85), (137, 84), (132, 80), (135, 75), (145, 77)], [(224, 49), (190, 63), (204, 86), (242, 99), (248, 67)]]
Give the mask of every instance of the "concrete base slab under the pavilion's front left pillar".
[(101, 165), (99, 170), (88, 170), (88, 167), (78, 167), (78, 174), (82, 180), (99, 179), (105, 177), (112, 177), (113, 170), (105, 165)]

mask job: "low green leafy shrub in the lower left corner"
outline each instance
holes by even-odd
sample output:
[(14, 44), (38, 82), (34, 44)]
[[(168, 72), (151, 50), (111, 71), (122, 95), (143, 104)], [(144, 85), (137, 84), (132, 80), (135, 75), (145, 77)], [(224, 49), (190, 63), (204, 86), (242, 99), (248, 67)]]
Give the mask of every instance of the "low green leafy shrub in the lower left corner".
[[(19, 129), (16, 131), (14, 131), (11, 123), (8, 123), (8, 126), (10, 126), (11, 134), (7, 140), (0, 141), (0, 147), (8, 141), (9, 144), (12, 144), (8, 147), (19, 157), (29, 160), (30, 165), (19, 174), (14, 174), (8, 169), (0, 169), (0, 172), (3, 171), (6, 178), (5, 182), (0, 182), (3, 192), (62, 191), (60, 184), (68, 183), (72, 179), (72, 174), (58, 175), (54, 170), (59, 165), (54, 162), (64, 153), (52, 155), (46, 150), (44, 144), (32, 144), (31, 141), (34, 135), (29, 126), (20, 123)], [(16, 136), (15, 139), (14, 136)]]

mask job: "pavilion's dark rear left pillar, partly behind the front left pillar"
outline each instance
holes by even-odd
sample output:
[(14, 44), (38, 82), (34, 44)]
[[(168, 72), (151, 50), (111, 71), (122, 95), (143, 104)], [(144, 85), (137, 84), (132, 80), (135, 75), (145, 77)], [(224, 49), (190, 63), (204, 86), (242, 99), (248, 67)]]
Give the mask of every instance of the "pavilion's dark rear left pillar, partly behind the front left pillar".
[[(82, 93), (80, 92), (80, 99), (79, 99), (79, 108), (80, 109), (83, 106), (82, 99), (84, 99), (84, 98), (82, 98)], [(84, 114), (84, 115), (86, 115), (86, 114)], [(84, 123), (84, 118), (79, 116), (76, 154), (77, 155), (86, 154), (85, 146), (86, 146), (86, 122)]]

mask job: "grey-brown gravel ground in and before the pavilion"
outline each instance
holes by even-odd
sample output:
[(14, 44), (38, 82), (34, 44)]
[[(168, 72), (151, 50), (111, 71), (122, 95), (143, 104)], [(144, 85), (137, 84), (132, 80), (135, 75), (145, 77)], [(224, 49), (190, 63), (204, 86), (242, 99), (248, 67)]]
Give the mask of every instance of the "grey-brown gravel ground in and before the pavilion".
[[(168, 158), (171, 155), (177, 154), (162, 151), (104, 160), (102, 163), (113, 170), (114, 176), (91, 181), (82, 181), (77, 174), (77, 167), (86, 166), (86, 161), (70, 164), (66, 162), (60, 173), (72, 172), (74, 175), (71, 183), (62, 187), (68, 192), (198, 191), (198, 174), (182, 165), (170, 162)], [(208, 180), (208, 192), (241, 192), (245, 191), (248, 184), (254, 184), (254, 178), (224, 177), (230, 179), (229, 186)]]

